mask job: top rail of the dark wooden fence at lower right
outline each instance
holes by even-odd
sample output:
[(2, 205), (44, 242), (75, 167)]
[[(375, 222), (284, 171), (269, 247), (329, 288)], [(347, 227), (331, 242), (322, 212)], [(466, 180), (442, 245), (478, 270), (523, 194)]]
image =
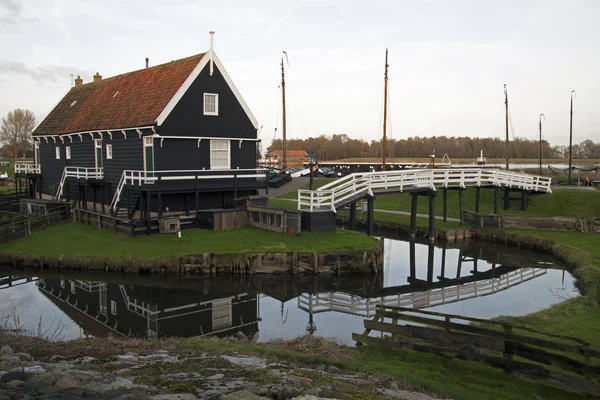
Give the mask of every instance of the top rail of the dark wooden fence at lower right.
[(431, 318), (420, 317), (417, 315), (402, 314), (399, 317), (398, 313), (382, 311), (382, 310), (377, 310), (375, 315), (378, 317), (381, 317), (381, 318), (400, 318), (404, 321), (411, 321), (411, 322), (417, 322), (420, 324), (439, 326), (440, 328), (444, 328), (444, 329), (448, 329), (448, 330), (453, 329), (453, 330), (465, 331), (465, 332), (469, 332), (469, 333), (488, 335), (488, 336), (492, 336), (492, 337), (502, 338), (505, 340), (511, 340), (514, 342), (525, 343), (525, 344), (529, 344), (532, 346), (545, 347), (548, 349), (558, 350), (558, 351), (573, 352), (573, 353), (579, 354), (579, 355), (598, 357), (598, 355), (600, 353), (600, 351), (595, 348), (576, 346), (576, 345), (571, 345), (571, 344), (566, 344), (566, 343), (558, 343), (558, 342), (553, 342), (553, 341), (546, 340), (546, 339), (534, 338), (534, 337), (530, 337), (530, 336), (523, 336), (523, 335), (519, 335), (519, 334), (515, 334), (515, 333), (505, 333), (505, 332), (501, 332), (501, 331), (495, 331), (493, 329), (481, 328), (481, 327), (475, 326), (475, 325), (465, 325), (465, 324), (459, 324), (456, 322), (435, 320), (435, 319), (431, 319)]

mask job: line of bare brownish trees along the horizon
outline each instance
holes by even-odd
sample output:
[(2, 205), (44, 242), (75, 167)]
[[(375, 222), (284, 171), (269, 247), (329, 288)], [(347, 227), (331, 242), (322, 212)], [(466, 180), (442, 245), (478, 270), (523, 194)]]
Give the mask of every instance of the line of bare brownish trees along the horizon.
[[(381, 140), (367, 142), (362, 139), (352, 139), (346, 134), (321, 135), (308, 139), (290, 139), (287, 141), (289, 150), (305, 150), (316, 154), (321, 160), (338, 160), (343, 158), (380, 158), (382, 156)], [(281, 139), (275, 139), (267, 148), (268, 155), (273, 150), (281, 150)], [(408, 139), (389, 139), (387, 141), (387, 157), (398, 158), (429, 158), (435, 154), (442, 158), (444, 154), (452, 158), (473, 158), (483, 155), (488, 158), (504, 158), (505, 142), (499, 138), (471, 137), (410, 137)], [(539, 158), (540, 143), (537, 140), (515, 138), (509, 141), (510, 158)], [(568, 158), (568, 146), (552, 146), (546, 140), (542, 141), (543, 158)], [(600, 143), (585, 140), (573, 145), (574, 158), (600, 158)]]

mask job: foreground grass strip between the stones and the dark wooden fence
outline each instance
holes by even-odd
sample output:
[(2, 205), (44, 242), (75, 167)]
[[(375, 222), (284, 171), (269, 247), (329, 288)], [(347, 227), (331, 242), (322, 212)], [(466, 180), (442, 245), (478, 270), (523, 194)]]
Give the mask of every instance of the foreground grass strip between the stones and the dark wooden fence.
[(353, 356), (350, 361), (331, 360), (319, 354), (301, 353), (269, 344), (214, 339), (191, 339), (180, 345), (180, 348), (201, 351), (233, 350), (313, 365), (335, 365), (356, 372), (385, 374), (417, 387), (425, 387), (430, 391), (466, 400), (531, 399), (535, 398), (532, 393), (545, 400), (582, 398), (538, 382), (520, 379), (518, 375), (507, 375), (502, 370), (481, 363), (449, 360), (414, 351), (393, 352), (374, 346), (348, 349)]

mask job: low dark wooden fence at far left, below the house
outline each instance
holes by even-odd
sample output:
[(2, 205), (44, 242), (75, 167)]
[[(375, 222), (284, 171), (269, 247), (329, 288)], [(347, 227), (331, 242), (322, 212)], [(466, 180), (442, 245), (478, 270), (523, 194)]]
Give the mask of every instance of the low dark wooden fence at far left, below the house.
[(44, 215), (19, 215), (13, 218), (0, 219), (0, 243), (31, 235), (31, 229), (41, 226), (46, 227), (53, 222), (70, 218), (69, 205), (55, 208), (54, 211)]

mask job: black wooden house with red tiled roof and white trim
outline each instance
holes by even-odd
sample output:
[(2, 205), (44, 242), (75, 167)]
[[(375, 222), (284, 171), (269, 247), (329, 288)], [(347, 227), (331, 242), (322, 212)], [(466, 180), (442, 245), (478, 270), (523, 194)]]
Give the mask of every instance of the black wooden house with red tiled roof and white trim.
[(75, 85), (15, 171), (42, 198), (123, 218), (233, 206), (254, 195), (258, 123), (213, 50)]

